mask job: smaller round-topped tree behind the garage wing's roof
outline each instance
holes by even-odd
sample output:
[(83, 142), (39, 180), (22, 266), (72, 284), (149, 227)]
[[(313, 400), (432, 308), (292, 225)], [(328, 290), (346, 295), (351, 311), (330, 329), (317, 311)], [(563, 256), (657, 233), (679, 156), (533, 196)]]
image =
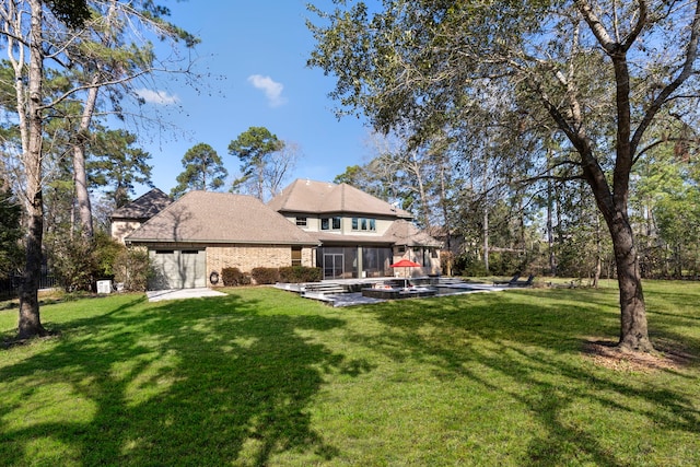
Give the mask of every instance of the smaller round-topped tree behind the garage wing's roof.
[(183, 156), (183, 171), (177, 176), (177, 186), (171, 190), (173, 198), (179, 198), (192, 189), (217, 190), (224, 185), (229, 172), (212, 147), (200, 142), (187, 150)]

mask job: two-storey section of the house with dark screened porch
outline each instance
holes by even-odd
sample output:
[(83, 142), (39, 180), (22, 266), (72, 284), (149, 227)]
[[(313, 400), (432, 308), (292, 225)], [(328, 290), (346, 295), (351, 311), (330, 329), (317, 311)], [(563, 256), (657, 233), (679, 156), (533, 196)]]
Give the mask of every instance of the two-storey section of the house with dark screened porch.
[(413, 276), (440, 272), (440, 242), (409, 212), (350, 185), (296, 179), (268, 206), (318, 238), (315, 265), (324, 279), (402, 275), (390, 268), (401, 258), (421, 265)]

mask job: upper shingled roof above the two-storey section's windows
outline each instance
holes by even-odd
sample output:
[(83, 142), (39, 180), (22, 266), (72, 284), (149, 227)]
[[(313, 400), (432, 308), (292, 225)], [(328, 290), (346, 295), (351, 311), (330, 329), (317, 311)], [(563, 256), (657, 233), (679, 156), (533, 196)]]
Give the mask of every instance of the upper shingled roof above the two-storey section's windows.
[(331, 184), (298, 178), (268, 206), (278, 212), (313, 214), (357, 213), (411, 219), (410, 212), (368, 195), (348, 184)]

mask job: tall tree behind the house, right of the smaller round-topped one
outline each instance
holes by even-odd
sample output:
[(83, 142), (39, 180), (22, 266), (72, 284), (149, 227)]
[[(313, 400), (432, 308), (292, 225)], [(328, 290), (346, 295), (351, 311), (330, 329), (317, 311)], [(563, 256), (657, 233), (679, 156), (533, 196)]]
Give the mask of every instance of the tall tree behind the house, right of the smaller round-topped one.
[[(232, 190), (247, 192), (265, 201), (270, 191), (266, 187), (266, 172), (270, 171), (270, 165), (285, 163), (283, 156), (273, 159), (273, 154), (283, 149), (284, 141), (265, 127), (250, 127), (238, 135), (229, 144), (229, 154), (241, 161), (241, 177), (233, 182)], [(287, 164), (282, 177), (291, 168), (292, 165)]]

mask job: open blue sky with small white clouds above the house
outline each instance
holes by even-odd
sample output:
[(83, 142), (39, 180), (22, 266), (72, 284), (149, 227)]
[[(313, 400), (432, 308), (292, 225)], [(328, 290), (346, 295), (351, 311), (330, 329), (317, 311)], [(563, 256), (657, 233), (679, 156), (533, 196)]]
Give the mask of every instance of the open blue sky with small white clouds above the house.
[[(371, 156), (362, 121), (338, 120), (334, 114), (336, 102), (327, 96), (334, 78), (306, 67), (314, 47), (305, 25), (312, 16), (306, 0), (202, 3), (164, 3), (173, 23), (201, 38), (196, 71), (207, 78), (198, 83), (199, 91), (175, 78), (153, 86), (160, 89), (143, 90), (148, 105), (168, 107), (166, 119), (177, 126), (158, 137), (139, 133), (139, 144), (152, 156), (156, 187), (168, 192), (175, 186), (183, 155), (199, 142), (210, 144), (233, 176), (240, 164), (228, 153), (229, 143), (252, 126), (299, 145), (291, 179), (330, 182)], [(136, 195), (147, 190), (138, 187)]]

